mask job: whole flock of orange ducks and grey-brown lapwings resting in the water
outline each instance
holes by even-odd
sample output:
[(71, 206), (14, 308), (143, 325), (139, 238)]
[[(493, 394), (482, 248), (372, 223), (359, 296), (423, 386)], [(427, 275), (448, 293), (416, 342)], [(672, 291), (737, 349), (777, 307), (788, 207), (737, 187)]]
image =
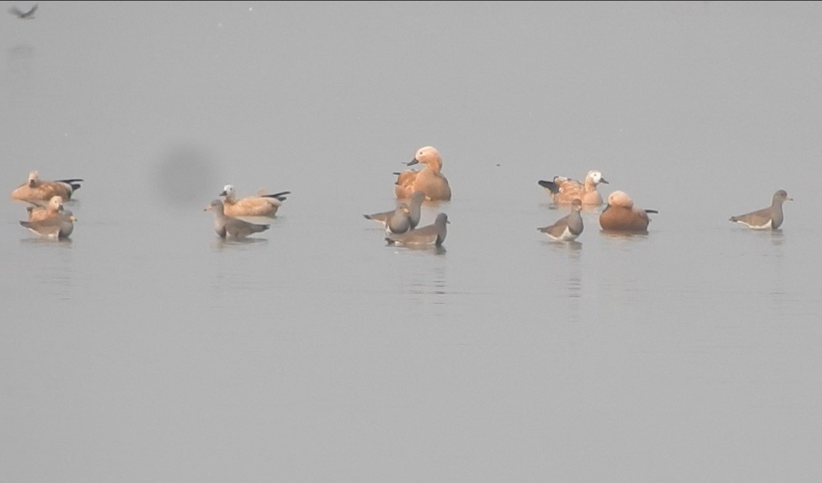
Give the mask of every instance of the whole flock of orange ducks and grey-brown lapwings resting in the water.
[[(442, 246), (446, 240), (448, 215), (439, 213), (433, 223), (418, 226), (425, 201), (447, 201), (451, 198), (450, 185), (442, 175), (442, 158), (433, 146), (417, 150), (409, 166), (423, 164), (421, 170), (408, 169), (399, 173), (395, 182), (397, 203), (394, 209), (363, 217), (382, 223), (385, 240), (397, 246)], [(47, 182), (40, 179), (38, 172), (29, 173), (28, 181), (12, 191), (12, 199), (27, 203), (28, 219), (21, 225), (40, 237), (67, 238), (74, 230), (76, 218), (63, 203), (72, 200), (72, 195), (81, 187), (80, 178), (61, 179)], [(598, 192), (599, 184), (609, 184), (603, 173), (592, 170), (580, 182), (570, 177), (556, 176), (551, 181), (540, 180), (551, 195), (555, 205), (567, 206), (570, 213), (551, 225), (537, 228), (552, 241), (574, 242), (584, 230), (583, 209), (598, 209), (603, 205), (603, 196)], [(257, 191), (256, 195), (238, 198), (233, 185), (225, 185), (219, 193), (221, 198), (211, 201), (204, 210), (214, 214), (214, 230), (222, 238), (242, 239), (270, 228), (267, 223), (254, 223), (250, 219), (260, 217), (273, 219), (277, 210), (291, 191), (267, 194)], [(784, 190), (774, 193), (771, 205), (750, 213), (732, 216), (730, 221), (742, 223), (753, 229), (777, 229), (784, 220), (783, 203), (792, 200)], [(655, 209), (641, 209), (625, 191), (613, 191), (604, 202), (605, 208), (599, 213), (599, 225), (604, 232), (647, 233), (649, 214)]]

